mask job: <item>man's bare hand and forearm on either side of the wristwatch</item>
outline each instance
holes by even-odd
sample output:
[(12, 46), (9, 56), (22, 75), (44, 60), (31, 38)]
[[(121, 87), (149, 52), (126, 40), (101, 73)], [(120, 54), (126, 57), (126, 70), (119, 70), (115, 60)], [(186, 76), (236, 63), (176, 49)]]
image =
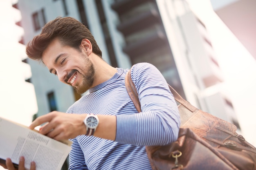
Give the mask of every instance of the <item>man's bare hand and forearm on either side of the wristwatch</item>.
[[(45, 122), (39, 132), (56, 140), (72, 139), (78, 135), (86, 134), (84, 119), (88, 114), (67, 114), (61, 112), (51, 112), (38, 117), (29, 126), (34, 129)], [(94, 136), (115, 140), (116, 135), (116, 117), (114, 115), (98, 115), (99, 125)]]

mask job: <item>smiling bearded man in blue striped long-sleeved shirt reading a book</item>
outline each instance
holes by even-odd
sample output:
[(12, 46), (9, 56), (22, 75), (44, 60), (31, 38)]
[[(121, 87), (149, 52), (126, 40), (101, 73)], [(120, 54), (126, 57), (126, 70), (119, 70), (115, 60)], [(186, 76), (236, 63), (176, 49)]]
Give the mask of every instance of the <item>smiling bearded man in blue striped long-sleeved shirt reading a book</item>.
[(177, 105), (157, 68), (148, 63), (132, 67), (142, 110), (137, 113), (125, 87), (128, 70), (107, 64), (90, 31), (74, 18), (47, 23), (27, 44), (26, 52), (78, 93), (89, 92), (70, 106), (68, 114), (54, 111), (30, 126), (47, 122), (40, 133), (73, 142), (70, 170), (150, 170), (145, 146), (177, 139)]

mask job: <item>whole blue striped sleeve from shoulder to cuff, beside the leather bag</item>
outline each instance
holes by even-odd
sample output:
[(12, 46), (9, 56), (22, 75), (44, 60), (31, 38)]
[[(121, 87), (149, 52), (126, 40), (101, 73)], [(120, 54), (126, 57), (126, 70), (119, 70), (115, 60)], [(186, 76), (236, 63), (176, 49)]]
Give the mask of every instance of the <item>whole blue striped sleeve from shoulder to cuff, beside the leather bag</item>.
[(155, 66), (140, 63), (132, 67), (131, 77), (139, 94), (141, 113), (117, 115), (116, 141), (137, 146), (166, 145), (175, 141), (180, 115), (162, 74)]

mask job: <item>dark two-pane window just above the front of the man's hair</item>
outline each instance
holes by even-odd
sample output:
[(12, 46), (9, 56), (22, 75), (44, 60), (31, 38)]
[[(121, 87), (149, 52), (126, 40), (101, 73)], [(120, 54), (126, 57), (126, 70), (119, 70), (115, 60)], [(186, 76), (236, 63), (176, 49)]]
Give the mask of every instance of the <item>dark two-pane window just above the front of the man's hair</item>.
[(34, 24), (34, 30), (40, 30), (46, 24), (44, 9), (34, 12), (32, 14), (32, 20)]

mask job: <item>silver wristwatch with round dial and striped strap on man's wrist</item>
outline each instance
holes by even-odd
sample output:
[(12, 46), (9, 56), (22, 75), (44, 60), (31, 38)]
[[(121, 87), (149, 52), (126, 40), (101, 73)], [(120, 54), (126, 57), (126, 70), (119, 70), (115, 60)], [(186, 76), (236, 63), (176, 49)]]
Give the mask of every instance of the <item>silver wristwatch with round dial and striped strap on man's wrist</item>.
[(97, 115), (88, 114), (83, 122), (86, 126), (86, 135), (91, 136), (99, 125), (99, 118)]

